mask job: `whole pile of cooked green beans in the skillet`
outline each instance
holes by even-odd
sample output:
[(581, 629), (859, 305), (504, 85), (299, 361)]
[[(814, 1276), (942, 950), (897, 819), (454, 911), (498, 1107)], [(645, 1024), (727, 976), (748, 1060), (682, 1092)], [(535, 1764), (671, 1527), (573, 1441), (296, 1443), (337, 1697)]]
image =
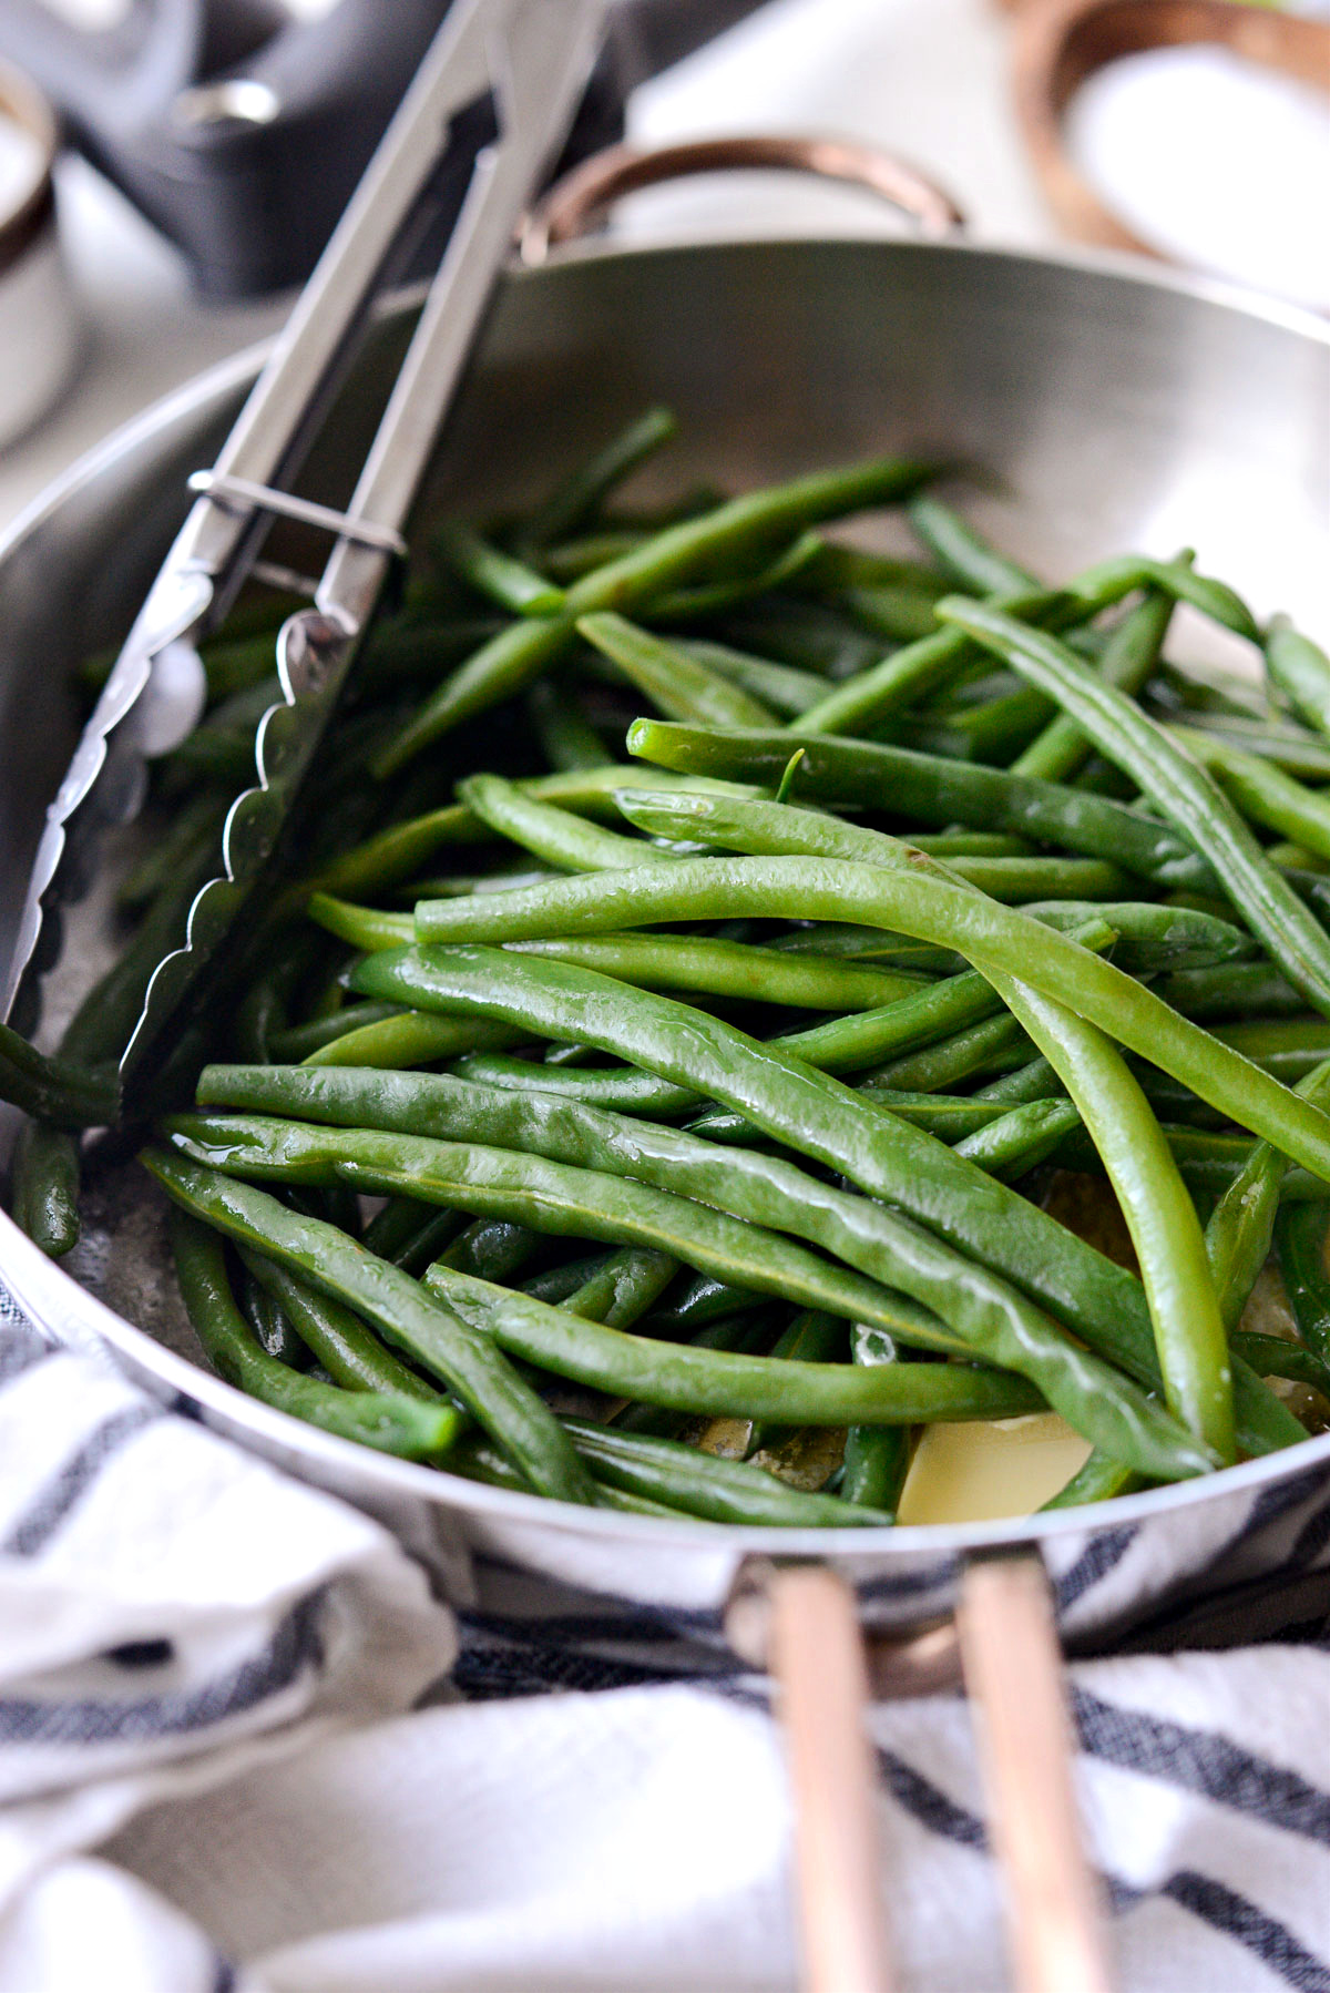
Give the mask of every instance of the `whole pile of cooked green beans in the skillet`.
[[(229, 1000), (126, 1128), (273, 698), (289, 604), (241, 598), (118, 967), (54, 1052), (0, 1032), (16, 1216), (72, 1252), (130, 1134), (227, 1381), (634, 1515), (887, 1527), (947, 1421), (1061, 1415), (1045, 1507), (1322, 1429), (1330, 660), (1190, 552), (1031, 574), (915, 460), (628, 504), (672, 434), (423, 530)], [(915, 556), (837, 524), (889, 508)], [(1264, 698), (1168, 656), (1178, 602)], [(1244, 1317), (1272, 1254), (1286, 1335)]]

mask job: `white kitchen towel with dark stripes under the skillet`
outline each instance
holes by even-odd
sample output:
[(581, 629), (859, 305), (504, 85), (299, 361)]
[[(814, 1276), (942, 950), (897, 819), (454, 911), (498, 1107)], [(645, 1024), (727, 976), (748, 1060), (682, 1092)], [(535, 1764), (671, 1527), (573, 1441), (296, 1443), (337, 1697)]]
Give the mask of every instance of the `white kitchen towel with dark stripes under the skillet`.
[[(1314, 1576), (1262, 1644), (1073, 1666), (1123, 1993), (1330, 1993)], [(465, 1612), (483, 1700), (413, 1708), (455, 1634), (391, 1537), (0, 1303), (0, 1993), (792, 1993), (754, 1684), (560, 1604)], [(999, 1993), (967, 1710), (875, 1740), (901, 1983)]]

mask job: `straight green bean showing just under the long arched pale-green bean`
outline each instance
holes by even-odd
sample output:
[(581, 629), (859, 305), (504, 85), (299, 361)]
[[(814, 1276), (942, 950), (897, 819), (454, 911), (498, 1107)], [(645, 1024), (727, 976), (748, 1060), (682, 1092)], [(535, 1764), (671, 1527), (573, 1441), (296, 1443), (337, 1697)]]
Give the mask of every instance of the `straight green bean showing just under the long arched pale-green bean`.
[(774, 955), (712, 935), (590, 935), (558, 941), (518, 941), (514, 953), (598, 969), (622, 983), (660, 991), (704, 991), (804, 1010), (875, 1010), (931, 991), (933, 985), (899, 969), (873, 969), (835, 957)]

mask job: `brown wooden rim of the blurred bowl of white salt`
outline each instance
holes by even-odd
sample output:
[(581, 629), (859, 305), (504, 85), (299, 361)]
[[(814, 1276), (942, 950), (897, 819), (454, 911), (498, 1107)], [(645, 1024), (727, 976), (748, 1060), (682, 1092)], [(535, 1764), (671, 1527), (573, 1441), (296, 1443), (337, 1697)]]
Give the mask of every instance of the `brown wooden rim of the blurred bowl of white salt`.
[(1153, 48), (1214, 44), (1298, 82), (1330, 88), (1330, 26), (1236, 0), (1025, 0), (1013, 6), (1015, 100), (1053, 213), (1079, 241), (1159, 255), (1105, 207), (1063, 143), (1087, 76)]

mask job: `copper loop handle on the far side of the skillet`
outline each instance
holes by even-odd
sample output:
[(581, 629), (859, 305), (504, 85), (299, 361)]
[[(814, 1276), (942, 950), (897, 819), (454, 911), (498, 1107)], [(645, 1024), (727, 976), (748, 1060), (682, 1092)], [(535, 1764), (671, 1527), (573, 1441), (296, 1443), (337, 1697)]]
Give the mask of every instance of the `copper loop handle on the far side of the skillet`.
[(558, 243), (590, 233), (608, 209), (626, 193), (654, 187), (666, 179), (686, 179), (692, 173), (724, 173), (736, 167), (762, 167), (786, 173), (812, 173), (816, 179), (839, 179), (845, 185), (867, 187), (891, 207), (909, 215), (921, 235), (953, 235), (963, 225), (961, 209), (935, 181), (913, 165), (843, 138), (786, 138), (780, 134), (754, 138), (708, 138), (688, 145), (610, 145), (576, 165), (550, 187), (520, 235), (522, 263), (542, 263)]

